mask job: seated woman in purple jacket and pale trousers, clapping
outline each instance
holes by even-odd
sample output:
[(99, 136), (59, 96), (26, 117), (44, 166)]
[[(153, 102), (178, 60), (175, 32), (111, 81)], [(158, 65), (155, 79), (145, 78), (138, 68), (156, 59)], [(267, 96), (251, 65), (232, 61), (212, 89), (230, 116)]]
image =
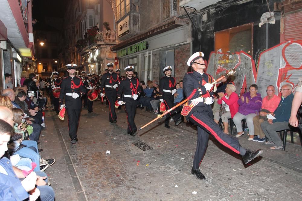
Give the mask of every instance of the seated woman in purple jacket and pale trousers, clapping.
[[(246, 124), (249, 128), (249, 135), (254, 135), (253, 118), (256, 115), (259, 115), (259, 111), (262, 106), (261, 94), (257, 93), (257, 91), (258, 86), (256, 84), (252, 84), (249, 87), (249, 92), (243, 94), (237, 101), (239, 104), (239, 110), (233, 117), (233, 122), (237, 128), (236, 137), (240, 137), (244, 134), (241, 124), (241, 120), (243, 119), (246, 119)], [(252, 140), (252, 138), (249, 138), (249, 140)]]

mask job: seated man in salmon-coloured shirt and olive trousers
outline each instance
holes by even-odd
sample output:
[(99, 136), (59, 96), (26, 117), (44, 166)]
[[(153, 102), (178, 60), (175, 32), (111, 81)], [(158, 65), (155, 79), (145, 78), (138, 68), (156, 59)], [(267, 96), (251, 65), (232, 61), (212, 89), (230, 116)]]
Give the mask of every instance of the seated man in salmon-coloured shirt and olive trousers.
[(259, 115), (255, 116), (253, 118), (253, 124), (254, 124), (254, 136), (249, 135), (250, 138), (253, 138), (253, 141), (255, 142), (264, 142), (265, 141), (265, 134), (263, 133), (262, 128), (260, 127), (260, 124), (264, 121), (267, 121), (266, 115), (273, 114), (276, 108), (278, 107), (278, 104), (281, 100), (279, 96), (275, 94), (276, 90), (275, 87), (272, 85), (269, 85), (266, 88), (266, 94), (262, 99), (262, 107), (259, 112)]

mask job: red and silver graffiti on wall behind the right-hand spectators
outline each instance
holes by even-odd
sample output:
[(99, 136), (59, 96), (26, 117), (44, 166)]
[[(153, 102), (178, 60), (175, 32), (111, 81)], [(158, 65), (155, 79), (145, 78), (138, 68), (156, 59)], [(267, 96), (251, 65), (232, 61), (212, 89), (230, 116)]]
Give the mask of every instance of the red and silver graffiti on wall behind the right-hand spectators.
[[(211, 52), (207, 64), (207, 72), (217, 79), (228, 69), (236, 69), (236, 93), (241, 95), (248, 86), (258, 85), (258, 92), (266, 96), (266, 87), (273, 85), (276, 94), (283, 84), (291, 84), (293, 91), (302, 77), (302, 40), (283, 42), (259, 54), (256, 62), (246, 52), (240, 51), (230, 54), (220, 49)], [(257, 69), (257, 70), (256, 70)]]

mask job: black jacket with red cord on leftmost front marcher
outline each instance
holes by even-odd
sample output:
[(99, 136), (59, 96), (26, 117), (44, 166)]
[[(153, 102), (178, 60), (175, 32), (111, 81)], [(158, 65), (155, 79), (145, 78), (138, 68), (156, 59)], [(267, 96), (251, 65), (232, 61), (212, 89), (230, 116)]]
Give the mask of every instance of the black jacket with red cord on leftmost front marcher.
[[(77, 93), (79, 98), (73, 99), (72, 96), (66, 96), (66, 93)], [(63, 104), (65, 96), (65, 106), (66, 108), (71, 109), (80, 109), (82, 108), (82, 100), (80, 99), (85, 95), (85, 87), (82, 82), (82, 79), (79, 77), (66, 77), (62, 80), (61, 84), (61, 93), (59, 97), (60, 105)]]

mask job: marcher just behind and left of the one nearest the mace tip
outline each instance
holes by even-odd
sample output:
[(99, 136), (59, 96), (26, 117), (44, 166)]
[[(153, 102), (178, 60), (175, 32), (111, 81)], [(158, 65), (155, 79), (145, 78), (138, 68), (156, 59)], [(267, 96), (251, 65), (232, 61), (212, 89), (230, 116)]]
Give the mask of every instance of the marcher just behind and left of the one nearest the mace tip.
[[(116, 123), (116, 113), (114, 110), (114, 103), (116, 101), (116, 88), (118, 86), (118, 77), (117, 74), (113, 72), (113, 63), (110, 62), (107, 64), (108, 73), (105, 73), (101, 81), (101, 89), (105, 87), (105, 94), (107, 97), (107, 102), (109, 103), (109, 122)], [(104, 96), (103, 93), (100, 94), (101, 97)]]

